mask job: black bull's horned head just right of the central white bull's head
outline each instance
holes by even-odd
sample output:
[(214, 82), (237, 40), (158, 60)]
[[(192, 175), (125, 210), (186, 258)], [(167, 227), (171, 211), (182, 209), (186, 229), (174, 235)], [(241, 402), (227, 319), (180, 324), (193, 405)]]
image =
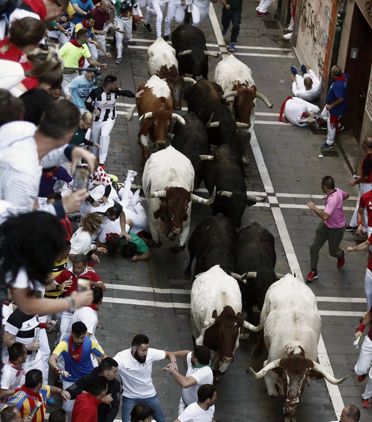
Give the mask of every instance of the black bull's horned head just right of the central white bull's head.
[(226, 190), (220, 190), (217, 195), (228, 198), (228, 202), (224, 207), (225, 214), (235, 228), (239, 228), (242, 225), (242, 216), (247, 206), (255, 205), (256, 202), (265, 202), (266, 200), (265, 197), (260, 198), (259, 196), (244, 194), (243, 192), (229, 192)]

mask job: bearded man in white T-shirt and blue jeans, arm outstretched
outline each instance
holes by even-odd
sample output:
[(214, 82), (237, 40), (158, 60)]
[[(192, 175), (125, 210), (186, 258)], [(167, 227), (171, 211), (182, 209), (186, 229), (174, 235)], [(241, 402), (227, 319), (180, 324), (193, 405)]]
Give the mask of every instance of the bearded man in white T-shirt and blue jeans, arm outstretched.
[(130, 411), (137, 403), (145, 403), (154, 409), (154, 419), (165, 422), (163, 409), (152, 384), (152, 363), (169, 359), (169, 372), (177, 370), (176, 356), (173, 352), (152, 349), (149, 339), (144, 334), (137, 334), (130, 349), (114, 356), (119, 365), (122, 380), (122, 422), (130, 422)]

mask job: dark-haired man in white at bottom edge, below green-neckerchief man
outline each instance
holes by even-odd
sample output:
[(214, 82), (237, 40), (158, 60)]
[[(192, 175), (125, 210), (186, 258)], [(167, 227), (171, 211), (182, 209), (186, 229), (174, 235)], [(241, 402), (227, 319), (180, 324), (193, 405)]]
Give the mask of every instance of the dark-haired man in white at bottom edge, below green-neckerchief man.
[(203, 384), (198, 389), (198, 401), (190, 404), (174, 422), (212, 422), (215, 414), (216, 387)]

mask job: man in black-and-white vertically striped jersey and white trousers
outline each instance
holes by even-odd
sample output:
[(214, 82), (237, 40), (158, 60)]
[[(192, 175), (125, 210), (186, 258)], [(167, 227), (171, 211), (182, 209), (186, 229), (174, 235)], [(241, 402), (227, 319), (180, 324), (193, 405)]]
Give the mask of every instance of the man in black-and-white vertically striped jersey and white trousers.
[[(134, 98), (131, 91), (123, 91), (117, 87), (117, 77), (107, 75), (103, 87), (92, 90), (85, 100), (87, 110), (94, 114), (92, 125), (92, 142), (100, 144), (100, 166), (105, 168), (107, 152), (109, 151), (110, 133), (116, 118), (116, 99), (122, 95)], [(98, 148), (92, 148), (93, 154), (98, 156)]]

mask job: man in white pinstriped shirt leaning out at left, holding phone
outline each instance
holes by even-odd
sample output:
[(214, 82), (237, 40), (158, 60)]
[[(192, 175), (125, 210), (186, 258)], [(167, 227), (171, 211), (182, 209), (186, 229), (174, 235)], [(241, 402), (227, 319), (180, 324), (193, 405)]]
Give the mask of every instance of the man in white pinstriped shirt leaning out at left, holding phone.
[[(9, 122), (0, 127), (0, 200), (24, 213), (37, 208), (42, 168), (59, 166), (84, 158), (93, 170), (94, 156), (79, 147), (65, 145), (79, 126), (79, 110), (67, 101), (56, 101), (43, 114), (36, 127), (30, 122)], [(81, 189), (48, 204), (43, 211), (63, 218), (77, 209), (88, 196)], [(35, 202), (36, 201), (36, 202)]]

